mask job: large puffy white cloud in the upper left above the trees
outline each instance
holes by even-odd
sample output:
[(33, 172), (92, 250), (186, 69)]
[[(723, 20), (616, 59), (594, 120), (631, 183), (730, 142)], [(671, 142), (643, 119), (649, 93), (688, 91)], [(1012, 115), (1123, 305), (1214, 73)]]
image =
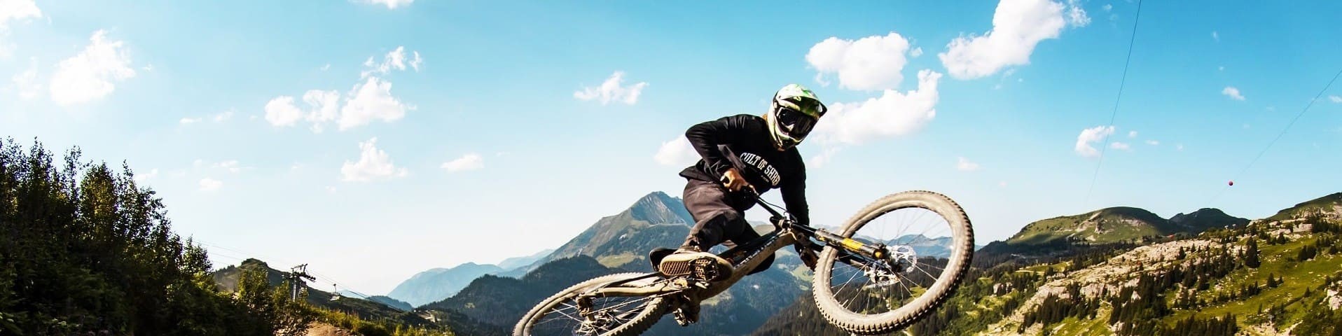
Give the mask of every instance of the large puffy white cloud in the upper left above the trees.
[(51, 75), (51, 100), (71, 106), (103, 98), (117, 88), (114, 82), (136, 76), (123, 43), (109, 41), (106, 31), (89, 37), (79, 55), (62, 60)]

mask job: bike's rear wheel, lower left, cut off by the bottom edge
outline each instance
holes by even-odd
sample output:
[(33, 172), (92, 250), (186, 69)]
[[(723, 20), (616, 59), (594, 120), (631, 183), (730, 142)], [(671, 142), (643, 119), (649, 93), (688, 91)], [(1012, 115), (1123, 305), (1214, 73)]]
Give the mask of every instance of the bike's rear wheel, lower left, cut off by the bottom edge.
[[(542, 300), (513, 328), (514, 336), (542, 335), (584, 335), (584, 336), (624, 336), (639, 335), (662, 319), (670, 309), (670, 303), (660, 296), (592, 297), (585, 293), (644, 276), (643, 273), (619, 273), (596, 277), (569, 286), (560, 293)], [(662, 278), (635, 280), (620, 286), (641, 286)], [(578, 300), (590, 300), (590, 312), (580, 312)]]

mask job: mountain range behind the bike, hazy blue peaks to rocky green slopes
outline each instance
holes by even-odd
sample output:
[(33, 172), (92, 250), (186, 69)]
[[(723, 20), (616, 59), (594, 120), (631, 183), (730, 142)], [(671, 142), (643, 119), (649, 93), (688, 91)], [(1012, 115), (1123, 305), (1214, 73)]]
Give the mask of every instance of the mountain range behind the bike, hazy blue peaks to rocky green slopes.
[[(515, 266), (511, 272), (498, 272), (498, 266), (474, 264), (454, 268), (483, 269), (484, 273), (467, 280), (467, 285), (451, 297), (417, 305), (412, 315), (433, 317), (431, 320), (447, 324), (459, 333), (462, 329), (475, 332), (464, 335), (505, 335), (531, 305), (570, 284), (600, 274), (651, 272), (644, 253), (654, 248), (676, 246), (688, 233), (691, 221), (683, 209), (679, 198), (652, 193), (624, 212), (600, 218), (553, 253), (531, 256), (534, 262), (511, 264)], [(1249, 295), (1252, 290), (1245, 288), (1249, 288), (1255, 278), (1266, 288), (1263, 280), (1266, 277), (1272, 277), (1274, 282), (1276, 278), (1307, 282), (1306, 286), (1291, 286), (1294, 289), (1314, 288), (1314, 292), (1306, 296), (1295, 295), (1296, 301), (1280, 308), (1274, 308), (1272, 304), (1263, 308), (1282, 309), (1290, 313), (1291, 317), (1287, 320), (1294, 319), (1295, 323), (1300, 323), (1300, 316), (1308, 312), (1300, 308), (1303, 305), (1317, 308), (1318, 300), (1325, 303), (1335, 300), (1342, 304), (1342, 297), (1329, 295), (1326, 290), (1329, 286), (1342, 290), (1342, 284), (1334, 284), (1342, 281), (1342, 273), (1337, 274), (1335, 280), (1323, 277), (1325, 273), (1342, 266), (1342, 258), (1326, 252), (1335, 244), (1337, 234), (1311, 232), (1319, 230), (1311, 228), (1335, 228), (1327, 226), (1327, 221), (1339, 218), (1342, 218), (1342, 193), (1302, 202), (1257, 221), (1228, 216), (1219, 209), (1198, 209), (1164, 218), (1138, 207), (1106, 207), (1040, 220), (1025, 225), (1011, 238), (994, 241), (976, 252), (970, 278), (977, 280), (962, 284), (950, 303), (910, 331), (915, 335), (1037, 335), (1043, 333), (1041, 328), (1049, 328), (1051, 335), (1135, 335), (1133, 332), (1138, 331), (1131, 328), (1145, 328), (1141, 331), (1176, 328), (1181, 325), (1180, 319), (1192, 319), (1188, 323), (1198, 325), (1237, 324), (1237, 328), (1272, 329), (1278, 327), (1264, 325), (1257, 311), (1229, 309), (1232, 316), (1245, 316), (1235, 321), (1200, 311), (1225, 312), (1224, 307), (1231, 304), (1225, 297), (1229, 296), (1248, 297), (1255, 303), (1271, 303), (1261, 299), (1263, 293), (1283, 296), (1284, 293), (1276, 289), (1257, 289), (1259, 292)], [(1314, 224), (1319, 221), (1325, 224)], [(758, 225), (756, 229), (766, 232), (772, 230), (772, 226)], [(1264, 260), (1263, 266), (1245, 270), (1241, 261), (1227, 262), (1225, 258), (1243, 258), (1240, 254), (1248, 237), (1263, 244), (1260, 246)], [(890, 242), (914, 245), (921, 256), (938, 256), (946, 253), (946, 241), (947, 237), (905, 236)], [(1294, 253), (1304, 246), (1323, 248), (1325, 252), (1318, 253), (1327, 256), (1299, 260)], [(1180, 262), (1184, 258), (1190, 262)], [(1135, 285), (1155, 281), (1151, 278), (1168, 276), (1173, 269), (1189, 268), (1177, 272), (1192, 273), (1200, 269), (1198, 272), (1205, 273), (1212, 272), (1206, 270), (1212, 268), (1210, 265), (1236, 265), (1236, 262), (1240, 266), (1231, 269), (1221, 266), (1216, 270), (1224, 274), (1198, 273), (1202, 276), (1194, 280), (1180, 280), (1193, 281), (1189, 284), (1193, 289), (1202, 285), (1197, 281), (1205, 281), (1206, 285), (1202, 286), (1209, 289), (1202, 292), (1217, 293), (1221, 297), (1196, 295), (1194, 304), (1188, 304), (1186, 295), (1182, 299), (1176, 295), (1185, 285), (1173, 284), (1146, 285), (1141, 289), (1149, 290), (1149, 295), (1166, 297), (1169, 303), (1176, 299), (1185, 300), (1177, 307), (1168, 304), (1166, 308), (1159, 308), (1165, 311), (1150, 311), (1157, 308), (1147, 307), (1123, 308), (1127, 305), (1121, 301), (1115, 301), (1117, 307), (1110, 303), (1118, 300), (1113, 297), (1114, 295), (1138, 290)], [(490, 270), (495, 273), (488, 274)], [(1263, 274), (1264, 270), (1272, 274)], [(1310, 274), (1311, 270), (1315, 274)], [(507, 273), (519, 276), (510, 277)], [(699, 324), (679, 327), (666, 317), (647, 335), (847, 335), (829, 327), (815, 311), (809, 303), (809, 280), (811, 272), (801, 265), (797, 256), (790, 249), (780, 250), (777, 261), (769, 270), (749, 276), (723, 295), (705, 301)], [(1074, 289), (1074, 285), (1082, 289)], [(1076, 290), (1084, 295), (1067, 296)], [(1098, 308), (1082, 312), (1088, 315), (1080, 317), (1059, 320), (1056, 316), (1062, 313), (1049, 309), (1064, 303), (1059, 301), (1063, 296), (1072, 300), (1066, 301), (1067, 305)], [(1126, 309), (1137, 309), (1146, 315), (1164, 312), (1159, 316), (1149, 316), (1164, 324), (1153, 327), (1154, 324), (1149, 323), (1121, 323), (1123, 319), (1133, 319)], [(1043, 319), (1040, 316), (1045, 313), (1049, 316), (1047, 323), (1040, 323), (1039, 319)], [(1111, 323), (1107, 315), (1114, 315), (1114, 321), (1119, 323)]]

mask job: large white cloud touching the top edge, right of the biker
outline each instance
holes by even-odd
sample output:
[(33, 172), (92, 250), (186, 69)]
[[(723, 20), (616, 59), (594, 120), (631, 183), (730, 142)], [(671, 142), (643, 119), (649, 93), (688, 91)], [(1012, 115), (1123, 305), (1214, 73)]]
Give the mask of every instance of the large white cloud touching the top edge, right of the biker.
[(1090, 17), (1075, 0), (1067, 5), (1049, 0), (1002, 0), (993, 13), (990, 31), (982, 36), (956, 37), (946, 44), (946, 52), (937, 56), (953, 78), (982, 78), (1004, 67), (1029, 64), (1039, 41), (1056, 39), (1067, 24), (1088, 23)]

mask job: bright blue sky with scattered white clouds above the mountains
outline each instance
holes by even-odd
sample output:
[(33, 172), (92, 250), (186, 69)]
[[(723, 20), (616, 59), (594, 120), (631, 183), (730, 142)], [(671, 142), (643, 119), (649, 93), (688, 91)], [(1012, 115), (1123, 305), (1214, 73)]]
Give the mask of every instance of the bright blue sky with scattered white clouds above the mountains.
[(1108, 129), (1123, 0), (3, 0), (0, 135), (127, 161), (217, 265), (366, 293), (679, 195), (684, 129), (786, 83), (833, 108), (801, 146), (820, 224), (915, 189), (980, 244), (1119, 205), (1261, 218), (1342, 191), (1342, 84), (1249, 166), (1342, 70), (1339, 11), (1145, 4)]

